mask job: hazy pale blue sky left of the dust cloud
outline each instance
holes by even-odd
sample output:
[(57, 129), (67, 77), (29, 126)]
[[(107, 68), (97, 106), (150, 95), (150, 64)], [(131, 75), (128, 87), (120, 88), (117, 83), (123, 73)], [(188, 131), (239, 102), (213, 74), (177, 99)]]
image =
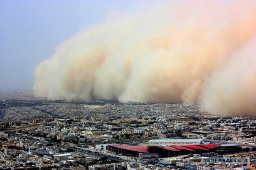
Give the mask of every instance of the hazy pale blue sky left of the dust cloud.
[[(148, 2), (146, 2), (148, 3)], [(0, 91), (32, 90), (33, 71), (56, 47), (111, 12), (134, 12), (142, 1), (0, 1)]]

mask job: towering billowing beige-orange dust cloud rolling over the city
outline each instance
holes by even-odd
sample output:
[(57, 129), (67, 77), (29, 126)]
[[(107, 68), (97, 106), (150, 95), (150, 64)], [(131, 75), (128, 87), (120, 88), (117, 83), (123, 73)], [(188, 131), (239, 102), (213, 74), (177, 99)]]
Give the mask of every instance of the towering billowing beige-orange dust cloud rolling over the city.
[(62, 100), (200, 102), (256, 115), (256, 2), (170, 2), (109, 15), (35, 71), (34, 93)]

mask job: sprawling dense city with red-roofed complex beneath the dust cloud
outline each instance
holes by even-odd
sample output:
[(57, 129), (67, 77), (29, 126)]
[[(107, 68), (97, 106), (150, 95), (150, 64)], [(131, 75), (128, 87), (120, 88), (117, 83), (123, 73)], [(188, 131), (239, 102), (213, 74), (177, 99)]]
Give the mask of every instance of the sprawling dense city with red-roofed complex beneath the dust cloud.
[(1, 170), (256, 169), (256, 118), (210, 115), (198, 104), (3, 93), (0, 119)]

